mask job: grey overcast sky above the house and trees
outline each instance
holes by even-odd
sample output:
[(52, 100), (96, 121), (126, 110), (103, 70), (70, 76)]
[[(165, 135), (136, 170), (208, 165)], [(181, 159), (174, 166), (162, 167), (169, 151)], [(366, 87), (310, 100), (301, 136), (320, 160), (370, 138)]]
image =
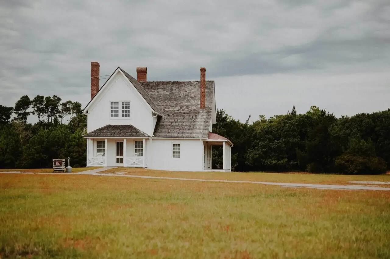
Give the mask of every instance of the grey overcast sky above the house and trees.
[[(388, 0), (3, 0), (0, 104), (56, 94), (86, 105), (90, 62), (148, 80), (215, 80), (245, 121), (317, 105), (337, 117), (390, 108)], [(104, 80), (101, 80), (103, 85)]]

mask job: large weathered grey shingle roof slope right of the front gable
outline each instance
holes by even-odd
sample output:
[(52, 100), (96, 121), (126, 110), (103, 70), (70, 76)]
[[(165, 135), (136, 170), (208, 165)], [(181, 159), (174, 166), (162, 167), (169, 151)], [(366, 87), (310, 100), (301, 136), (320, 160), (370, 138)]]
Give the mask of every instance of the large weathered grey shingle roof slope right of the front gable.
[(164, 114), (153, 137), (207, 138), (214, 98), (214, 81), (206, 81), (206, 107), (200, 109), (200, 81), (140, 82)]

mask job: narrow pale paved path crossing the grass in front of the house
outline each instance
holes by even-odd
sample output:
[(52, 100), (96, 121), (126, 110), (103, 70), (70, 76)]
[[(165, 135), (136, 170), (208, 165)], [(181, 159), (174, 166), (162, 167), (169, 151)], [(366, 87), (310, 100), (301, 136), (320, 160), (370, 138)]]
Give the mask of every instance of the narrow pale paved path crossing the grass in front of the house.
[[(270, 182), (257, 182), (257, 181), (232, 181), (232, 180), (211, 180), (211, 179), (192, 179), (192, 178), (176, 178), (176, 177), (159, 177), (159, 176), (135, 176), (129, 174), (101, 174), (99, 172), (112, 169), (115, 167), (103, 167), (99, 169), (87, 170), (78, 173), (38, 173), (38, 174), (84, 174), (93, 176), (121, 176), (121, 177), (133, 177), (144, 179), (167, 179), (167, 180), (181, 180), (181, 181), (199, 181), (199, 182), (218, 182), (218, 183), (252, 183), (252, 184), (265, 184), (265, 185), (278, 185), (284, 187), (293, 188), (314, 188), (314, 189), (326, 189), (326, 190), (376, 190), (376, 191), (390, 191), (388, 187), (376, 187), (376, 186), (363, 186), (363, 185), (333, 185), (333, 184), (308, 184), (308, 183), (270, 183)], [(0, 173), (13, 173), (13, 174), (33, 174), (23, 172), (0, 172)]]

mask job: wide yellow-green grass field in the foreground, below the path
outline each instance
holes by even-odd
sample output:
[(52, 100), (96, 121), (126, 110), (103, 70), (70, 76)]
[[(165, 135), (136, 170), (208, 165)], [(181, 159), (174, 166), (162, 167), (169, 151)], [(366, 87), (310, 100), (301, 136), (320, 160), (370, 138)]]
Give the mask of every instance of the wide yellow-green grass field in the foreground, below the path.
[(0, 257), (390, 258), (390, 192), (54, 174), (0, 188)]

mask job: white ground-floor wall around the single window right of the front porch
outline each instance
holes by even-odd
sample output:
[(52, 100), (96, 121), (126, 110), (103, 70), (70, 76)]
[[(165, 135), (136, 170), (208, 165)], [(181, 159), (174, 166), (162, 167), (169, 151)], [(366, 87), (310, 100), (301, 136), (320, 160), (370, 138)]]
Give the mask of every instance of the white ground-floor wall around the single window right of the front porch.
[[(148, 142), (150, 169), (203, 171), (203, 142), (199, 139), (152, 139)], [(180, 158), (172, 158), (173, 143), (180, 143)]]

